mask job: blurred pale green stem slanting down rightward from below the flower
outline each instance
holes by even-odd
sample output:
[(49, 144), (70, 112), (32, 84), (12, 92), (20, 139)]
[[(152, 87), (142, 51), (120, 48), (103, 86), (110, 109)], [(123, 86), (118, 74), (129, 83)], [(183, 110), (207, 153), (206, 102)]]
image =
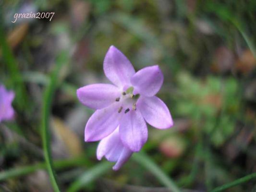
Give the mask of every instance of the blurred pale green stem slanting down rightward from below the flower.
[(134, 161), (145, 167), (147, 170), (149, 170), (152, 174), (158, 178), (158, 180), (164, 184), (166, 187), (168, 187), (172, 192), (181, 192), (179, 188), (176, 186), (173, 180), (169, 178), (159, 167), (156, 165), (150, 157), (148, 157), (145, 153), (135, 153), (132, 158)]

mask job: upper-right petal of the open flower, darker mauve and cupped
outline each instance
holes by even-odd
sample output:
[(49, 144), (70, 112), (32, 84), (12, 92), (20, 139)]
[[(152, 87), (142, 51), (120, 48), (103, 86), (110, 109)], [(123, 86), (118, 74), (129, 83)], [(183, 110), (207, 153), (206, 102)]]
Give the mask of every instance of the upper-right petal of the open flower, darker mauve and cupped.
[(134, 74), (131, 83), (134, 86), (134, 94), (154, 96), (163, 84), (163, 73), (158, 65), (145, 67)]

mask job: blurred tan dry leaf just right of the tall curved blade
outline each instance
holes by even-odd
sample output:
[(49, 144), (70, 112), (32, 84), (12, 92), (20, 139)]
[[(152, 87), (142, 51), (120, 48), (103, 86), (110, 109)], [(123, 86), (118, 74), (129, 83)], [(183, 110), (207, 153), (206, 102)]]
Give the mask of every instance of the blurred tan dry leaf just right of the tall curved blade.
[(56, 135), (65, 144), (69, 154), (80, 156), (83, 152), (80, 138), (59, 118), (53, 118), (51, 124)]

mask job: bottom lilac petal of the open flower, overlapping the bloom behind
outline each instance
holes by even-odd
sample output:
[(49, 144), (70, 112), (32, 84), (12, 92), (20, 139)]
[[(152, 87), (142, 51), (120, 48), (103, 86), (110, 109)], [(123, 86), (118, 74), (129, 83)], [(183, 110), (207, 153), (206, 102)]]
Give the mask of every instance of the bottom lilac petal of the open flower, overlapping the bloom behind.
[(119, 135), (124, 146), (140, 151), (147, 140), (147, 127), (139, 111), (131, 110), (122, 116)]

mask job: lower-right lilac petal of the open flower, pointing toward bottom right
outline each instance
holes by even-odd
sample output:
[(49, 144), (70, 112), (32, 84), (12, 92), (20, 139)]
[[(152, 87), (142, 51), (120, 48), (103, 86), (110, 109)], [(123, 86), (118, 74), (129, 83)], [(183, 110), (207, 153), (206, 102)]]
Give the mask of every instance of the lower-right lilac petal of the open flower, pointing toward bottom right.
[(146, 122), (158, 129), (173, 126), (171, 114), (165, 103), (157, 96), (141, 96), (136, 104)]

